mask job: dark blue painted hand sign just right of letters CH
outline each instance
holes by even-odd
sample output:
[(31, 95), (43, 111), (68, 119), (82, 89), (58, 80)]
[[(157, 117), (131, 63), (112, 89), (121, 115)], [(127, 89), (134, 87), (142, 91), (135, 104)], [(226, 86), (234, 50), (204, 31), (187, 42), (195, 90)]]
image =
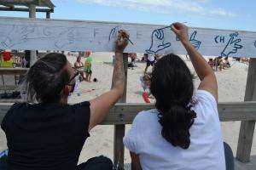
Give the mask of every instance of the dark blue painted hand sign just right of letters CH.
[(239, 42), (241, 42), (241, 38), (236, 38), (238, 37), (238, 35), (238, 32), (230, 34), (230, 40), (225, 46), (224, 50), (221, 52), (222, 57), (228, 57), (230, 56), (230, 54), (236, 54), (237, 49), (242, 48), (242, 45), (238, 44)]

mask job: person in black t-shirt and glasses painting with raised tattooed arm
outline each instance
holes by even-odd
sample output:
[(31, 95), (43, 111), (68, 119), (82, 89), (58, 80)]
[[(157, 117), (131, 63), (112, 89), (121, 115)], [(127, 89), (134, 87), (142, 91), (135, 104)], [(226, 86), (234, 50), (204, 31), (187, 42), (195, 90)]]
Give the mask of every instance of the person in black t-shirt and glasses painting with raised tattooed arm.
[(124, 93), (123, 52), (129, 36), (120, 32), (123, 37), (119, 33), (115, 46), (113, 86), (96, 99), (67, 104), (79, 72), (64, 54), (46, 54), (32, 65), (24, 82), (29, 103), (12, 105), (1, 124), (9, 148), (9, 170), (113, 169), (112, 161), (104, 156), (77, 165), (90, 130), (105, 119)]

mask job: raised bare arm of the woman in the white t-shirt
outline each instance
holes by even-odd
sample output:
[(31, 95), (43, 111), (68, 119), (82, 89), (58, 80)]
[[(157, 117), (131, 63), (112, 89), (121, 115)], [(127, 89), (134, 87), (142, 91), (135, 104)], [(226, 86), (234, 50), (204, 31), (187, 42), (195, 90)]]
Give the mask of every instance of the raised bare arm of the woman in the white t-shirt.
[(172, 31), (174, 31), (183, 43), (184, 48), (186, 48), (189, 58), (195, 68), (195, 72), (201, 80), (198, 89), (210, 92), (218, 102), (218, 85), (215, 74), (212, 71), (211, 66), (208, 65), (207, 60), (204, 59), (191, 42), (189, 42), (188, 27), (181, 23), (174, 23), (172, 24)]

